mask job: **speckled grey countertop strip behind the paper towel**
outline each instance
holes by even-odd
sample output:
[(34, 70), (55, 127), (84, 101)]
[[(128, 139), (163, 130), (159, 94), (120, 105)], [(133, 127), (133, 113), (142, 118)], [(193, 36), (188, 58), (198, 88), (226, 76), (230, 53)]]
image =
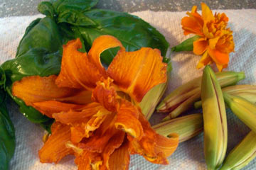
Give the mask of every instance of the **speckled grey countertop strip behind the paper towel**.
[[(43, 0), (0, 0), (0, 18), (38, 14), (37, 5)], [(205, 0), (211, 9), (256, 8), (256, 0)], [(99, 0), (97, 8), (114, 11), (190, 11), (198, 0)], [(199, 8), (200, 9), (200, 8)]]

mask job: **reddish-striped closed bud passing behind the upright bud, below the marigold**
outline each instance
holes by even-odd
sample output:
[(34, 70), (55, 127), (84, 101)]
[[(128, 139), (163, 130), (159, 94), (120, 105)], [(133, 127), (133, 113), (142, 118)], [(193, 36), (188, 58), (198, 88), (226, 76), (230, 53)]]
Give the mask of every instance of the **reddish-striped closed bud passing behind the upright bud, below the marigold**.
[[(216, 77), (221, 87), (230, 86), (245, 79), (244, 72), (218, 72)], [(166, 96), (157, 106), (158, 112), (168, 113), (164, 120), (176, 118), (181, 113), (188, 111), (193, 107), (193, 103), (198, 101), (201, 96), (201, 77), (188, 81), (186, 84), (179, 86)]]

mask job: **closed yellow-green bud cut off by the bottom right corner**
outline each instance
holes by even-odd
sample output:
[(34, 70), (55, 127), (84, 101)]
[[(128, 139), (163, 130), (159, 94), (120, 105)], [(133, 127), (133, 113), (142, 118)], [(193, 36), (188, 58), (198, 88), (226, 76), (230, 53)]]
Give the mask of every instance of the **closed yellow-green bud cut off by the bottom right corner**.
[(226, 157), (220, 170), (242, 169), (256, 157), (256, 133), (251, 131)]

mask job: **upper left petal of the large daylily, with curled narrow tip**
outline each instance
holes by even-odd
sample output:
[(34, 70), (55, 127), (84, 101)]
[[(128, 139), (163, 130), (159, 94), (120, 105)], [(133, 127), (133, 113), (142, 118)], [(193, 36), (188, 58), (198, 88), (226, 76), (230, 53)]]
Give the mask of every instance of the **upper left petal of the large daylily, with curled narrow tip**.
[(70, 40), (67, 45), (63, 45), (60, 74), (56, 79), (58, 86), (92, 89), (102, 77), (99, 69), (89, 62), (86, 52), (78, 51), (81, 47), (82, 43), (79, 38)]

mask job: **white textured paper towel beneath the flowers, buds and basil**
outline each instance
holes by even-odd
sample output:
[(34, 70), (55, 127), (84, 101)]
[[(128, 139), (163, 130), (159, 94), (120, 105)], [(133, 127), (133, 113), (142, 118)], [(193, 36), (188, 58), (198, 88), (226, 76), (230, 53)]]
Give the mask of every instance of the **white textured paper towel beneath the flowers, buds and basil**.
[[(240, 84), (256, 83), (256, 10), (225, 10), (229, 21), (229, 27), (233, 30), (235, 40), (235, 53), (230, 54), (228, 70), (244, 71), (246, 79)], [(132, 13), (143, 18), (157, 28), (169, 41), (171, 47), (186, 40), (181, 29), (181, 18), (185, 12), (152, 12), (142, 11)], [(31, 21), (38, 16), (21, 16), (0, 18), (0, 62), (14, 58), (18, 42)], [(171, 81), (166, 93), (177, 86), (198, 77), (202, 70), (196, 69), (200, 56), (193, 52), (171, 53), (173, 71)], [(47, 170), (47, 169), (77, 169), (73, 157), (65, 157), (59, 164), (41, 164), (38, 159), (38, 149), (43, 146), (43, 129), (30, 123), (18, 113), (18, 107), (9, 103), (9, 112), (16, 128), (16, 151), (11, 160), (11, 170)], [(228, 111), (228, 152), (235, 147), (250, 130)], [(154, 115), (157, 118), (157, 115)], [(203, 157), (203, 134), (192, 140), (181, 143), (176, 152), (169, 157), (168, 166), (159, 166), (146, 162), (143, 157), (132, 156), (129, 169), (206, 169)], [(245, 169), (256, 169), (256, 159)]]

